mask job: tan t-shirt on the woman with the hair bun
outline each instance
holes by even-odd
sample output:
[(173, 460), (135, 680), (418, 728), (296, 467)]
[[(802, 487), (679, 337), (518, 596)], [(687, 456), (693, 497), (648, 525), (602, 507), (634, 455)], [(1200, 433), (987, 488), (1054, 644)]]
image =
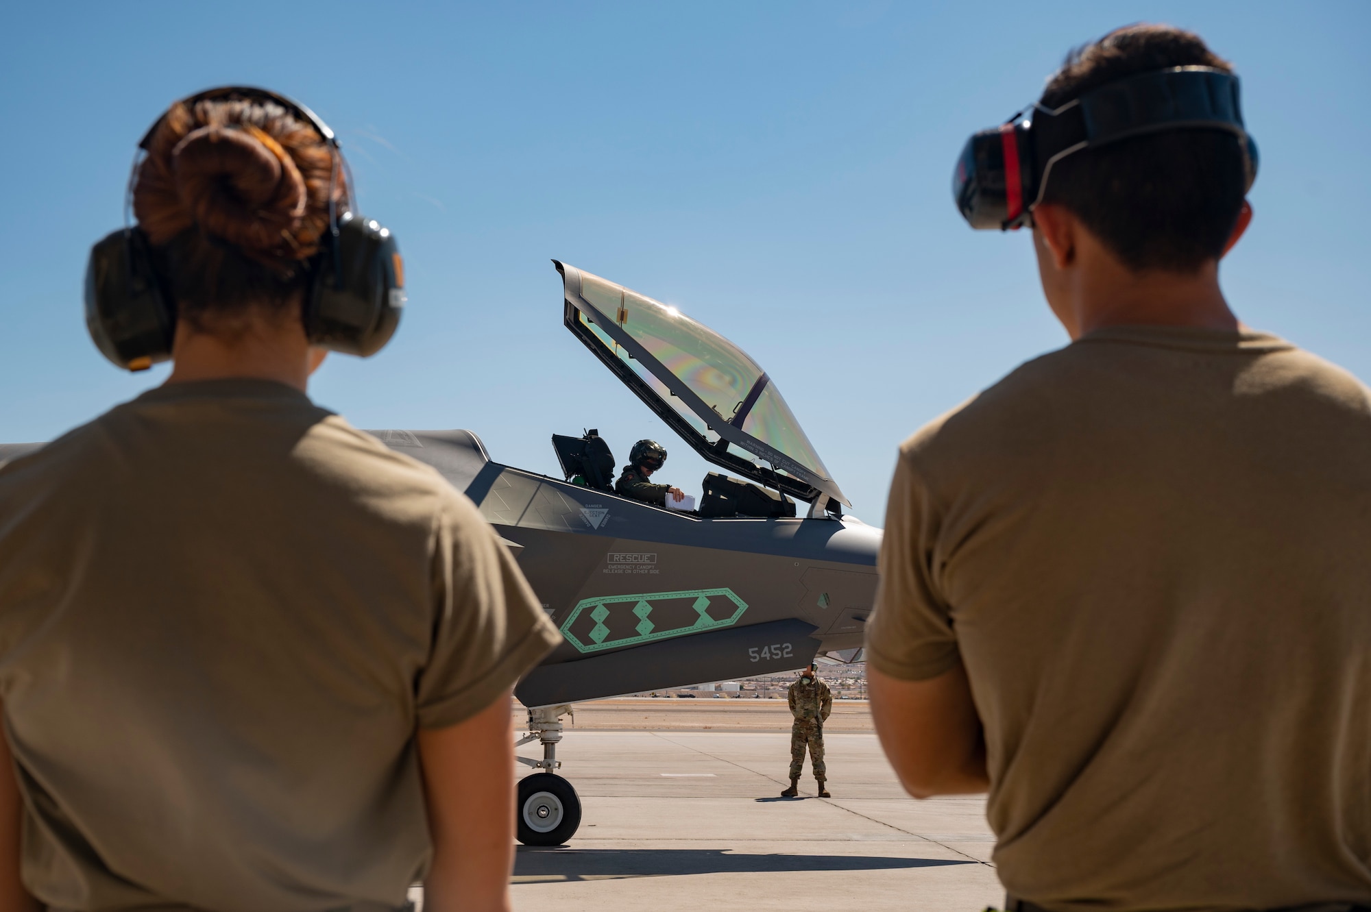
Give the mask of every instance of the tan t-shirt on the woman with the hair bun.
[(558, 638), (428, 466), (280, 383), (144, 393), (0, 468), (25, 882), (67, 909), (398, 907), (430, 850), (415, 729)]

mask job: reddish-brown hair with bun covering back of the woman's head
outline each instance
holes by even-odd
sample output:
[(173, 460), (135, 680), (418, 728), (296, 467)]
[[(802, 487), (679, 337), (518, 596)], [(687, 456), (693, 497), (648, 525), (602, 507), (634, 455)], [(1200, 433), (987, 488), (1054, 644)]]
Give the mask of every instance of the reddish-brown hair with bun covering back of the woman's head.
[(336, 155), (266, 99), (171, 105), (149, 137), (133, 211), (178, 319), (232, 331), (251, 311), (299, 312), (330, 192), (347, 210)]

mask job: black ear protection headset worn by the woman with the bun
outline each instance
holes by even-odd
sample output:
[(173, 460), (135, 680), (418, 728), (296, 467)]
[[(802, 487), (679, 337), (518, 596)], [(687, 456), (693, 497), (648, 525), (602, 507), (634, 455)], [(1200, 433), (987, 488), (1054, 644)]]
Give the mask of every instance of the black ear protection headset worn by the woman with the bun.
[[(182, 104), (221, 99), (274, 101), (308, 122), (330, 147), (329, 230), (322, 249), (307, 264), (304, 331), (313, 345), (335, 352), (366, 357), (381, 351), (404, 308), (404, 264), (388, 229), (355, 212), (336, 211), (333, 192), (344, 163), (333, 130), (303, 104), (266, 89), (223, 86), (193, 94)], [(160, 125), (162, 118), (144, 134), (140, 149), (148, 151)], [(129, 177), (130, 201), (140, 164), (141, 156)], [(147, 236), (126, 226), (92, 246), (86, 266), (86, 329), (101, 355), (130, 371), (147, 370), (171, 356), (175, 301), (154, 263)]]

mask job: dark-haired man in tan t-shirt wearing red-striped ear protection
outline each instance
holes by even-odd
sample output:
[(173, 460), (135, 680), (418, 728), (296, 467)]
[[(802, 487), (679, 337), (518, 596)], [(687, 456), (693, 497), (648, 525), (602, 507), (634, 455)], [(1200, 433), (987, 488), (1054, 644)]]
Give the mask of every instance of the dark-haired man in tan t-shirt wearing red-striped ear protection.
[(988, 790), (1017, 912), (1371, 905), (1371, 390), (1230, 309), (1238, 101), (1117, 29), (953, 177), (1071, 342), (901, 448), (866, 671), (914, 797)]

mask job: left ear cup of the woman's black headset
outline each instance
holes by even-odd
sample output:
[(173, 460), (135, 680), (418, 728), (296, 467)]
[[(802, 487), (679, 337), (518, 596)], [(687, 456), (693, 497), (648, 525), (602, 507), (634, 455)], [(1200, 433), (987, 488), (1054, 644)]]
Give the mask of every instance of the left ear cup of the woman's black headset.
[(117, 367), (143, 371), (171, 357), (175, 308), (169, 307), (141, 229), (112, 231), (90, 248), (86, 329)]

